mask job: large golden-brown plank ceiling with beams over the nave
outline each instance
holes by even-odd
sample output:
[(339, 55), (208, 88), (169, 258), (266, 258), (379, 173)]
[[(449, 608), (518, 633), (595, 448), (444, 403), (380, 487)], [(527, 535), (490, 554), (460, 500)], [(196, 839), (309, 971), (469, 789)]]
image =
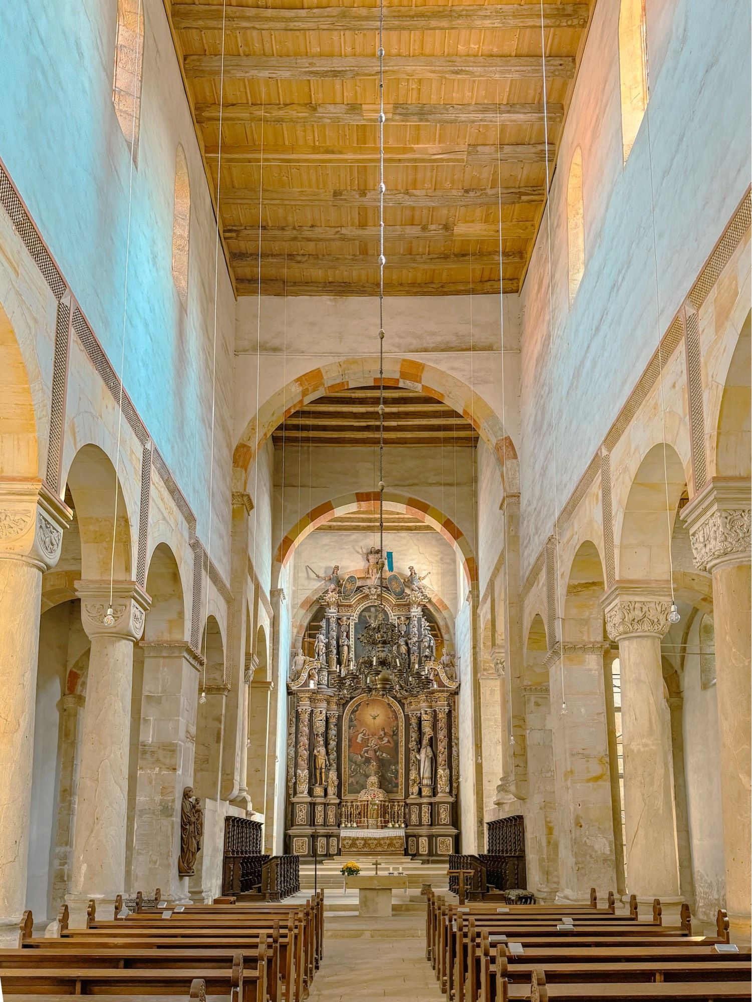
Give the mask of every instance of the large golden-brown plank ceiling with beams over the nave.
[[(264, 6), (258, 6), (263, 3)], [(378, 291), (376, 0), (164, 0), (239, 295)], [(539, 0), (385, 3), (386, 295), (516, 292), (545, 188)], [(543, 6), (548, 157), (596, 0)], [(220, 115), (222, 113), (222, 134)], [(263, 187), (262, 187), (263, 140)]]

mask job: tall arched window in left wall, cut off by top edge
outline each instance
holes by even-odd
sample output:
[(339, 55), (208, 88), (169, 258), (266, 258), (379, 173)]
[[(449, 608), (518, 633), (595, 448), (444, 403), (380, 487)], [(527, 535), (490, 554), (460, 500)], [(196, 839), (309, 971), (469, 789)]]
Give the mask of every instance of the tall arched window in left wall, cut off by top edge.
[(133, 163), (138, 162), (138, 127), (143, 71), (142, 0), (117, 0), (112, 103)]

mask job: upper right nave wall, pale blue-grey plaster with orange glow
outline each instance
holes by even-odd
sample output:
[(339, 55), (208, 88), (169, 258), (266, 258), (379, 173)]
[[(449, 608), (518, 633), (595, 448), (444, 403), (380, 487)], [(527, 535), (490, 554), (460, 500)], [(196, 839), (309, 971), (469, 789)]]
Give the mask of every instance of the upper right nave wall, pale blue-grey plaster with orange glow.
[[(596, 7), (552, 178), (552, 335), (545, 217), (520, 296), (523, 577), (550, 532), (554, 479), (560, 511), (657, 348), (648, 117), (661, 335), (749, 184), (749, 4), (647, 4), (650, 101), (626, 164), (619, 10)], [(567, 186), (578, 147), (586, 265), (570, 307)]]

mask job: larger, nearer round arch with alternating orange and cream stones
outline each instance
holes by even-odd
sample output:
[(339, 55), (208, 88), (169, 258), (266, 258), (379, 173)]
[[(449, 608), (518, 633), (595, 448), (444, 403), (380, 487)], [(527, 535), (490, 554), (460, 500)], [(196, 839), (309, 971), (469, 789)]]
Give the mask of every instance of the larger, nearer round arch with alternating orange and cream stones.
[[(301, 407), (325, 394), (340, 390), (379, 385), (378, 356), (344, 359), (312, 369), (292, 380), (259, 407), (241, 435), (233, 454), (235, 489), (245, 490), (248, 473), (258, 451), (272, 432)], [(440, 400), (470, 422), (495, 455), (505, 490), (519, 489), (517, 454), (511, 439), (504, 434), (495, 411), (466, 383), (447, 372), (415, 359), (384, 359), (384, 385), (417, 390)]]

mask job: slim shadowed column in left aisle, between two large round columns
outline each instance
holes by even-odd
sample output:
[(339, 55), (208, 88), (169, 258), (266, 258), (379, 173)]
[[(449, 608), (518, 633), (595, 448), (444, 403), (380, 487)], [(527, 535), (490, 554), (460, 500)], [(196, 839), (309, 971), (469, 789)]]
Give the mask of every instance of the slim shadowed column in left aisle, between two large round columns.
[(52, 878), (52, 914), (65, 901), (70, 875), (70, 854), (75, 825), (78, 790), (78, 732), (83, 716), (84, 697), (66, 692), (60, 699), (60, 783), (55, 830), (55, 870)]

